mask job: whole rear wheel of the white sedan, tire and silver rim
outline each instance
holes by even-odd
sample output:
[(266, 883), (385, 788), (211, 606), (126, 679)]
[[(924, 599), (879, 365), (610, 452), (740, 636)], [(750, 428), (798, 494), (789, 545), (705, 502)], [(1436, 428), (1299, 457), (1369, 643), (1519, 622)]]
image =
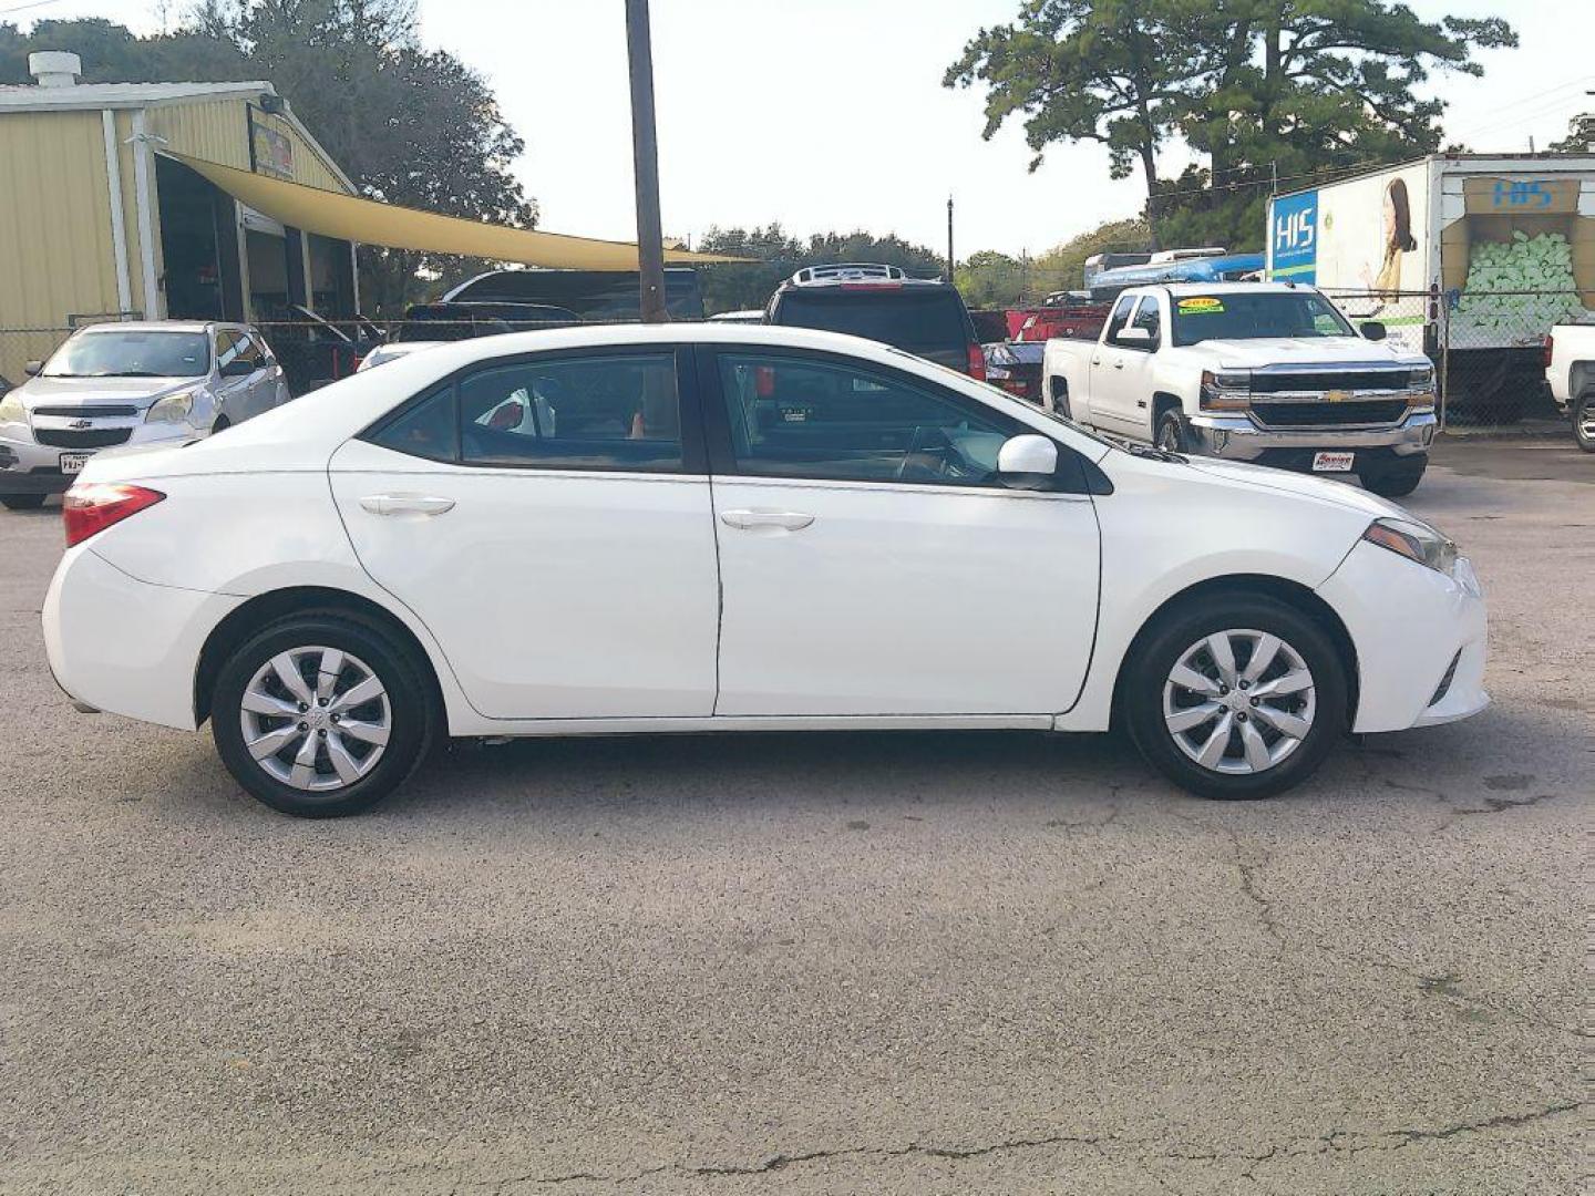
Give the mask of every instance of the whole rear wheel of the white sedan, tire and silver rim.
[(289, 616), (222, 665), (211, 729), (222, 762), (282, 813), (368, 810), (415, 772), (435, 734), (426, 665), (343, 612)]

